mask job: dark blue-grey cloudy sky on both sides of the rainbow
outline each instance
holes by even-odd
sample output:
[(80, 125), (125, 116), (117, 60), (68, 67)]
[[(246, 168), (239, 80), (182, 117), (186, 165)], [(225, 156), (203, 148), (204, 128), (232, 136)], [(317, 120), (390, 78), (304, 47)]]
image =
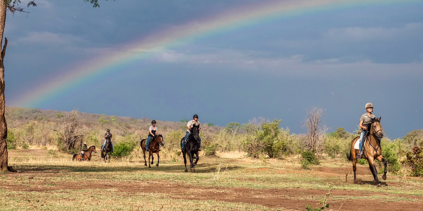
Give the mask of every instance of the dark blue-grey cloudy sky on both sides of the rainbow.
[[(8, 14), (8, 99), (77, 64), (168, 27), (258, 1), (37, 0)], [(324, 110), (328, 132), (353, 132), (375, 105), (391, 138), (423, 128), (423, 2), (313, 12), (196, 38), (92, 78), (40, 108), (221, 126), (282, 119), (293, 133)]]

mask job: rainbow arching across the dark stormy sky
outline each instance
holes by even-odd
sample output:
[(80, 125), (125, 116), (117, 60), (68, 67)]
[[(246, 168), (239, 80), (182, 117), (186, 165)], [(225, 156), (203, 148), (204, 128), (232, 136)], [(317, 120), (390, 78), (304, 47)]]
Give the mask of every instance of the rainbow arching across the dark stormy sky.
[[(148, 59), (154, 52), (183, 45), (196, 38), (210, 36), (239, 27), (259, 24), (272, 19), (299, 16), (312, 12), (335, 10), (362, 5), (404, 3), (405, 0), (272, 0), (255, 5), (246, 5), (202, 20), (174, 26), (167, 30), (154, 32), (139, 41), (85, 61), (11, 100), (11, 106), (38, 107), (54, 100), (55, 97), (82, 86), (100, 73), (112, 73), (137, 60)], [(417, 0), (407, 0), (417, 2)]]

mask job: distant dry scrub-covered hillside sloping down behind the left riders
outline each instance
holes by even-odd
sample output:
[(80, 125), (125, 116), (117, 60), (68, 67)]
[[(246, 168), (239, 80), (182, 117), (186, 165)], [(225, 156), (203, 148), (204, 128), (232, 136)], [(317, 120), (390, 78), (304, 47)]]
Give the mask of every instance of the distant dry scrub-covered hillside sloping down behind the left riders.
[[(62, 129), (62, 117), (68, 111), (53, 111), (39, 108), (16, 108), (6, 107), (5, 116), (8, 124), (8, 133), (13, 136), (19, 148), (25, 148), (25, 143), (30, 146), (54, 146), (56, 144), (56, 132)], [(80, 113), (79, 118), (83, 122), (83, 128), (88, 135), (86, 141), (99, 146), (106, 129), (110, 129), (115, 140), (131, 135), (139, 140), (148, 135), (148, 128), (151, 119), (143, 117), (109, 116), (105, 114)], [(178, 136), (182, 138), (186, 130), (185, 122), (169, 122), (156, 119), (159, 133), (166, 135), (170, 132), (178, 131)], [(207, 126), (202, 124), (202, 131), (207, 135), (220, 132), (224, 127)], [(180, 137), (179, 137), (180, 136)]]

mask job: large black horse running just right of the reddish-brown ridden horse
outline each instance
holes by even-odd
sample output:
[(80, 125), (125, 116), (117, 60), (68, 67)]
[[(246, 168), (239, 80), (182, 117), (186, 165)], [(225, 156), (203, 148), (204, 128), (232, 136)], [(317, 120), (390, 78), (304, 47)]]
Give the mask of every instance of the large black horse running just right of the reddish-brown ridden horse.
[[(185, 137), (184, 137), (185, 138)], [(181, 139), (181, 146), (182, 141), (184, 141), (184, 138)], [(187, 141), (185, 143), (185, 147), (182, 150), (182, 155), (184, 156), (184, 163), (185, 163), (185, 172), (188, 172), (187, 170), (187, 156), (190, 157), (190, 163), (191, 163), (191, 171), (195, 172), (194, 166), (197, 165), (198, 162), (198, 140), (200, 138), (200, 130), (198, 127), (192, 127), (191, 134), (188, 136)], [(194, 161), (194, 154), (195, 154), (195, 162)]]

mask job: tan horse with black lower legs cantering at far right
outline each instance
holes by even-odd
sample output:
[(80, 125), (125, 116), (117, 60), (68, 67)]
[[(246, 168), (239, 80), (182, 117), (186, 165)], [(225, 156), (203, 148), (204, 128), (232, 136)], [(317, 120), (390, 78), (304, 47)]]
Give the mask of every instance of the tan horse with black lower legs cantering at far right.
[[(382, 149), (380, 147), (379, 138), (383, 137), (382, 133), (382, 125), (380, 124), (380, 119), (375, 119), (370, 127), (370, 135), (367, 137), (365, 143), (364, 143), (364, 151), (362, 159), (366, 159), (369, 163), (369, 168), (371, 173), (373, 174), (373, 178), (376, 181), (377, 187), (381, 187), (380, 181), (377, 178), (377, 170), (375, 167), (374, 160), (379, 160), (380, 162), (383, 162), (383, 165), (385, 167), (384, 174), (382, 176), (382, 179), (386, 179), (386, 160), (382, 156)], [(360, 141), (360, 136), (354, 138), (351, 143), (351, 154), (346, 155), (347, 159), (352, 161), (352, 169), (354, 170), (354, 181), (356, 181), (356, 174), (355, 171), (357, 170), (357, 154), (360, 153), (360, 150), (354, 149), (354, 144), (356, 141)]]

